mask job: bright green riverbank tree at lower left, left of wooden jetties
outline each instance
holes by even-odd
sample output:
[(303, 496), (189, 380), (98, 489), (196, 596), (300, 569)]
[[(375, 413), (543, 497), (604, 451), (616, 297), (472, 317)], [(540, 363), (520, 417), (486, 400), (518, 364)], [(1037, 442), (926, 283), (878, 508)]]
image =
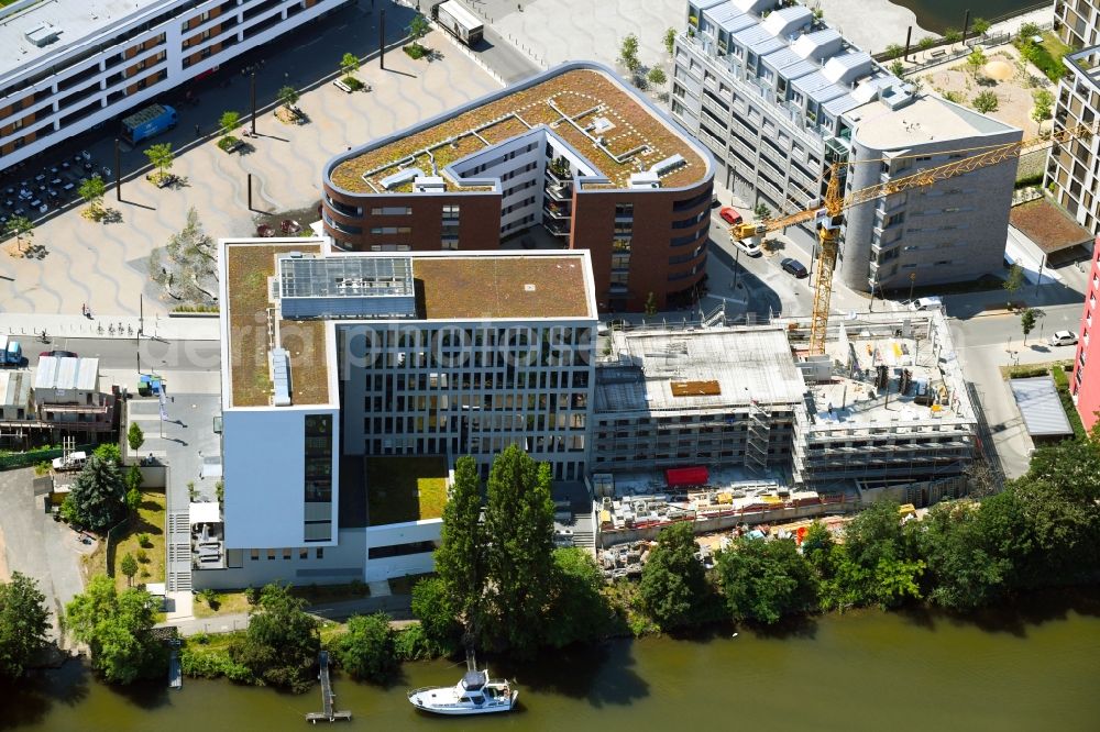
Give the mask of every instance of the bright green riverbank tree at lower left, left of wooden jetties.
[(91, 651), (91, 667), (110, 684), (163, 675), (167, 650), (153, 635), (156, 602), (143, 589), (119, 592), (106, 575), (92, 577), (65, 608), (65, 626)]

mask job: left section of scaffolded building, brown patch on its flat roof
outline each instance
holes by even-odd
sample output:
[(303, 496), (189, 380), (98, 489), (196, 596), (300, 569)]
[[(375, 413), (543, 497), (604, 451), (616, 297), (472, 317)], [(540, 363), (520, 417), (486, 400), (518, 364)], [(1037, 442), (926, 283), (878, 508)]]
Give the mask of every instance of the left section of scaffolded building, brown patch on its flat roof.
[(596, 368), (595, 472), (791, 461), (806, 385), (779, 325), (615, 331)]

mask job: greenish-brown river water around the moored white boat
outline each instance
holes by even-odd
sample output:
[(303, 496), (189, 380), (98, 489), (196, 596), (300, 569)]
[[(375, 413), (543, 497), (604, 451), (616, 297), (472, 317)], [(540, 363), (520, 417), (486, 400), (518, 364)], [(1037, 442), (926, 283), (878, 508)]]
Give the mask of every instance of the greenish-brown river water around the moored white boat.
[[(450, 663), (406, 664), (389, 689), (336, 676), (341, 730), (1100, 730), (1100, 594), (965, 622), (861, 611), (771, 636), (615, 641), (528, 667), (521, 709), (474, 722), (428, 718), (406, 687), (451, 684)], [(494, 674), (496, 675), (496, 674)], [(319, 688), (293, 696), (185, 679), (114, 690), (70, 663), (0, 688), (0, 729), (204, 732), (301, 729)]]

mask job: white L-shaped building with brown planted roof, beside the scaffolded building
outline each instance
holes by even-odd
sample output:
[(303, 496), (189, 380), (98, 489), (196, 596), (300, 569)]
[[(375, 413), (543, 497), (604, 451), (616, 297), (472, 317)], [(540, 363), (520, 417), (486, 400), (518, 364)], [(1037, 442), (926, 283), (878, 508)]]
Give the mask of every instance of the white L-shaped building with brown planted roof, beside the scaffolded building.
[(509, 444), (586, 470), (595, 368), (579, 252), (221, 243), (224, 552), (197, 587), (429, 572), (454, 461)]

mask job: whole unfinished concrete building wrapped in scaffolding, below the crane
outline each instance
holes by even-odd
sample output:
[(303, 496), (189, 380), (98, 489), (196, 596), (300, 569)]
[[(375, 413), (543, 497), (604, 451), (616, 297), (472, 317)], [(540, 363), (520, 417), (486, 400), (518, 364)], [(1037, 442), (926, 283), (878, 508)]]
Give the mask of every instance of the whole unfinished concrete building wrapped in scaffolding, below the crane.
[(823, 356), (807, 337), (794, 320), (612, 332), (593, 470), (741, 466), (827, 491), (963, 474), (977, 420), (943, 313), (838, 320)]

